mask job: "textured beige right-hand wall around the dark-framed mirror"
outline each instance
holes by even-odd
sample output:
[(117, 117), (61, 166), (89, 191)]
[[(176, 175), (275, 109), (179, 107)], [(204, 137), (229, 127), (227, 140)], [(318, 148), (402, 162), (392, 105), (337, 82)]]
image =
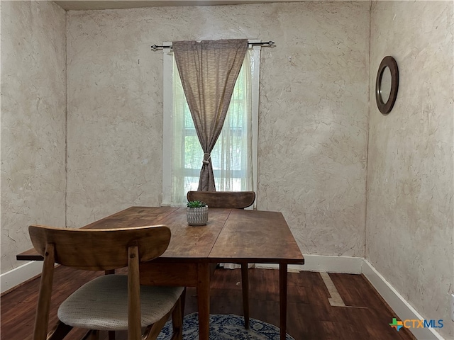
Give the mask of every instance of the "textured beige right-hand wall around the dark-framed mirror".
[(372, 4), (370, 86), (382, 58), (400, 74), (382, 115), (370, 94), (367, 259), (453, 339), (453, 2)]

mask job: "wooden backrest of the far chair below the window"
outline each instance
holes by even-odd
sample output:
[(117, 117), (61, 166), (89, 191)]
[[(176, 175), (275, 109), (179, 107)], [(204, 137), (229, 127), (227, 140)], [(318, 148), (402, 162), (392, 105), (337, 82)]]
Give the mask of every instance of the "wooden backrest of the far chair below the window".
[(244, 209), (253, 205), (254, 191), (188, 191), (187, 200), (201, 200), (209, 208)]

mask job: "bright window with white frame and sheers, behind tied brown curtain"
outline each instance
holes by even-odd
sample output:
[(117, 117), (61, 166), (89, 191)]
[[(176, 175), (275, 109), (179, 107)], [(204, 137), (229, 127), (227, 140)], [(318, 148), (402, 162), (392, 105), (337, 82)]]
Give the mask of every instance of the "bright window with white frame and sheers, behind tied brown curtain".
[[(260, 45), (250, 46), (211, 152), (216, 191), (256, 190), (259, 72)], [(204, 152), (169, 49), (164, 50), (163, 123), (162, 205), (183, 206), (187, 191), (199, 185)]]

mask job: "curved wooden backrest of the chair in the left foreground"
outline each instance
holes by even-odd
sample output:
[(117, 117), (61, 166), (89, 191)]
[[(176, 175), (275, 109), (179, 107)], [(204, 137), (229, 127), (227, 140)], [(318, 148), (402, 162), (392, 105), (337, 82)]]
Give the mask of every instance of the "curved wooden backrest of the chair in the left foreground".
[(55, 263), (90, 271), (107, 271), (128, 265), (128, 248), (138, 246), (139, 261), (157, 258), (170, 242), (165, 225), (118, 229), (72, 229), (43, 225), (28, 227), (31, 242), (42, 256), (54, 245)]

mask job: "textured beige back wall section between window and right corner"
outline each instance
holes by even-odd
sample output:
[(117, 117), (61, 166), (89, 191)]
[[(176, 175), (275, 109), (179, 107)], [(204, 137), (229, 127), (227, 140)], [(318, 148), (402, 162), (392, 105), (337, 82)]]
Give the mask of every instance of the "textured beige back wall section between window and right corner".
[(277, 8), (259, 30), (277, 48), (263, 49), (258, 208), (282, 211), (304, 254), (364, 256), (369, 4)]

